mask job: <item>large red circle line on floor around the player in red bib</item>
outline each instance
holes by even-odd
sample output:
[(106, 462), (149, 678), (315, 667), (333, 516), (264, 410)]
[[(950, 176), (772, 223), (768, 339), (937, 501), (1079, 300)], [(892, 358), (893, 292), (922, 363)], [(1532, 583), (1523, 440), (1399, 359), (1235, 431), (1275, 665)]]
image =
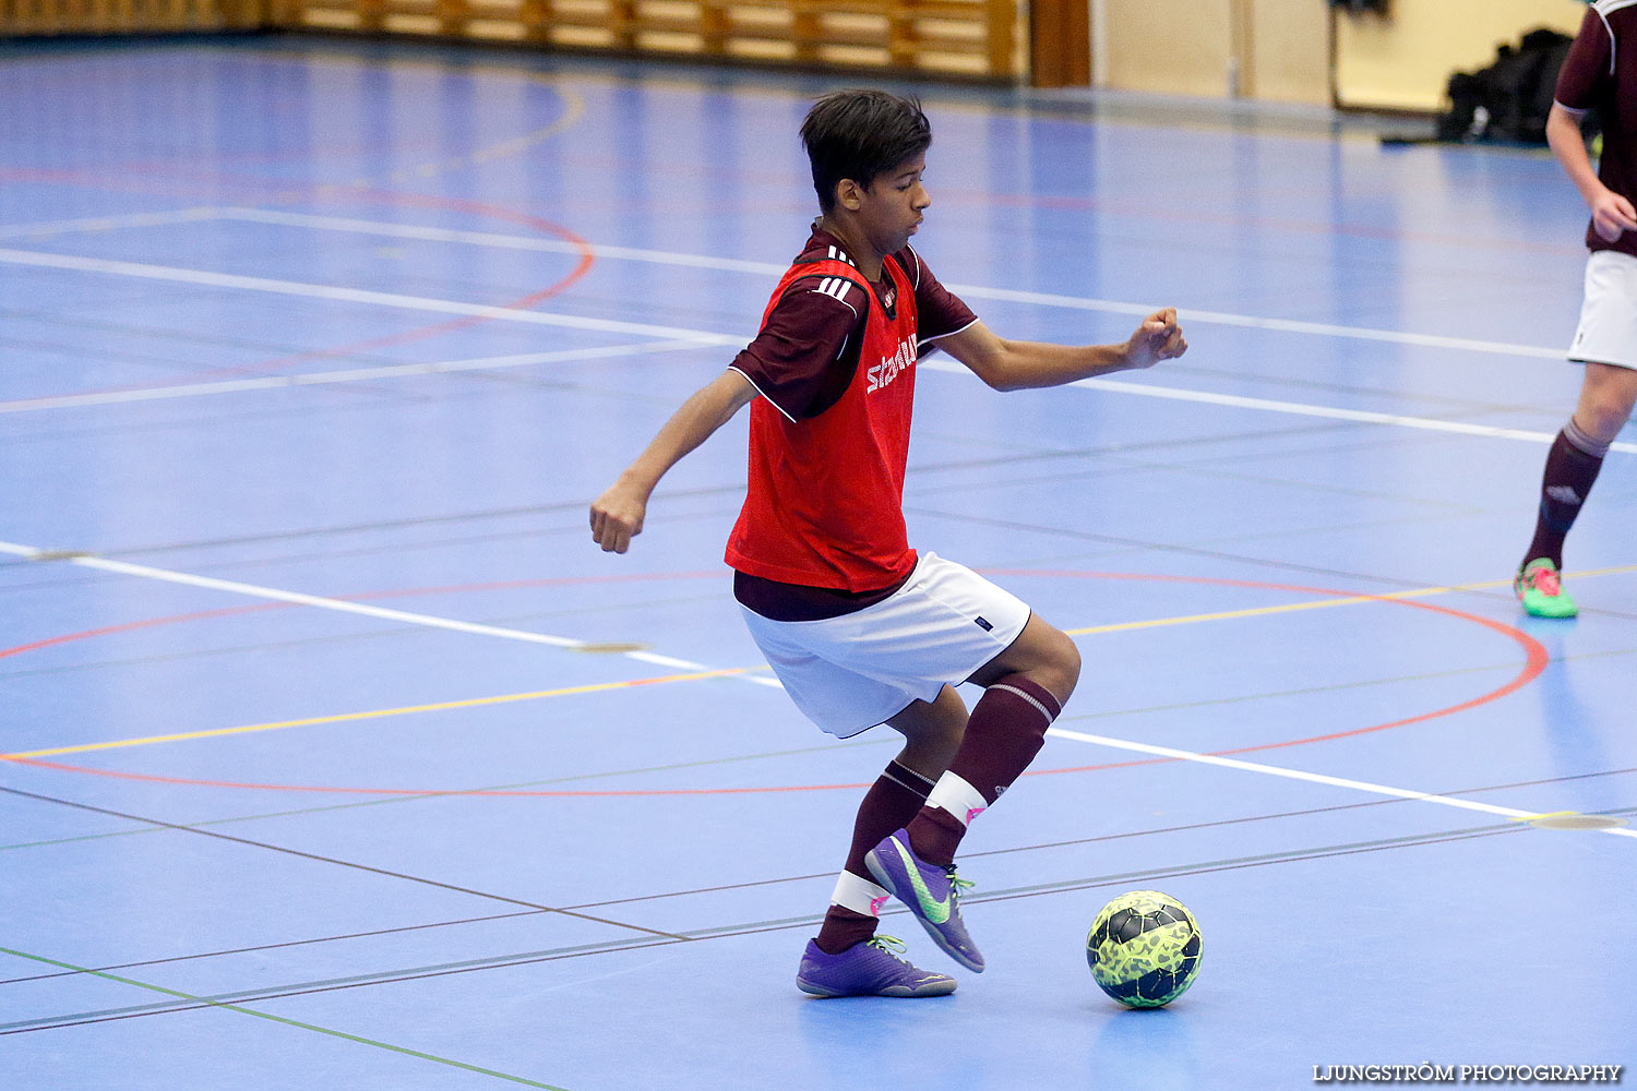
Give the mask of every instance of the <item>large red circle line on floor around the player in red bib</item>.
[[(1336, 597), (1342, 597), (1342, 599), (1370, 599), (1373, 602), (1383, 602), (1383, 604), (1401, 605), (1401, 607), (1413, 607), (1413, 608), (1418, 608), (1418, 610), (1427, 610), (1427, 612), (1432, 612), (1432, 613), (1442, 613), (1445, 617), (1452, 617), (1452, 618), (1457, 618), (1457, 620), (1462, 620), (1462, 622), (1473, 622), (1477, 625), (1481, 625), (1483, 628), (1488, 628), (1488, 630), (1491, 630), (1495, 633), (1508, 636), (1509, 640), (1513, 640), (1514, 643), (1517, 643), (1524, 649), (1524, 666), (1522, 666), (1522, 669), (1519, 669), (1519, 672), (1509, 682), (1506, 682), (1504, 685), (1499, 685), (1498, 689), (1493, 689), (1493, 690), (1490, 690), (1486, 694), (1481, 694), (1481, 695), (1473, 697), (1470, 700), (1460, 702), (1457, 705), (1449, 705), (1445, 708), (1437, 708), (1437, 710), (1432, 710), (1432, 712), (1419, 713), (1419, 715), (1414, 715), (1414, 716), (1405, 716), (1401, 720), (1391, 720), (1388, 723), (1378, 723), (1378, 725), (1372, 725), (1372, 726), (1367, 726), (1367, 728), (1354, 728), (1354, 730), (1349, 730), (1349, 731), (1333, 731), (1329, 734), (1313, 734), (1313, 736), (1306, 736), (1306, 738), (1300, 738), (1300, 739), (1285, 739), (1285, 741), (1280, 741), (1280, 743), (1260, 743), (1260, 744), (1256, 744), (1256, 746), (1242, 746), (1242, 748), (1226, 749), (1226, 751), (1206, 751), (1206, 754), (1210, 754), (1213, 757), (1231, 757), (1234, 754), (1251, 754), (1251, 752), (1256, 752), (1256, 751), (1283, 749), (1283, 748), (1292, 748), (1292, 746), (1308, 746), (1311, 743), (1328, 743), (1328, 741), (1333, 741), (1333, 739), (1344, 739), (1344, 738), (1355, 738), (1355, 736), (1362, 736), (1362, 734), (1373, 734), (1377, 731), (1388, 731), (1388, 730), (1403, 728), (1403, 726), (1408, 726), (1408, 725), (1413, 725), (1413, 723), (1424, 723), (1427, 720), (1437, 720), (1437, 718), (1442, 718), (1442, 716), (1452, 716), (1455, 713), (1468, 712), (1472, 708), (1478, 708), (1481, 705), (1488, 705), (1488, 703), (1496, 702), (1496, 700), (1499, 700), (1499, 698), (1503, 698), (1503, 697), (1506, 697), (1509, 694), (1517, 692), (1519, 689), (1522, 689), (1529, 682), (1536, 680), (1540, 676), (1540, 672), (1545, 671), (1547, 664), (1550, 662), (1550, 654), (1547, 653), (1545, 646), (1540, 644), (1540, 641), (1537, 641), (1536, 638), (1529, 636), (1522, 630), (1514, 628), (1511, 625), (1504, 625), (1504, 623), (1495, 622), (1491, 618), (1478, 617), (1478, 615), (1468, 613), (1465, 610), (1455, 610), (1452, 607), (1441, 607), (1441, 605), (1434, 605), (1434, 604), (1427, 604), (1427, 602), (1413, 602), (1413, 600), (1408, 600), (1408, 599), (1391, 599), (1391, 597), (1387, 597), (1387, 595), (1372, 595), (1372, 594), (1357, 592), (1357, 590), (1334, 590), (1334, 589), (1328, 589), (1328, 587), (1305, 587), (1305, 586), (1300, 586), (1300, 584), (1270, 584), (1270, 582), (1260, 582), (1260, 581), (1215, 579), (1215, 577), (1206, 577), (1206, 576), (1166, 576), (1166, 574), (1146, 574), (1146, 572), (1095, 572), (1095, 571), (1094, 572), (1085, 572), (1085, 571), (1051, 571), (1051, 569), (981, 569), (981, 571), (984, 571), (985, 574), (990, 574), (990, 576), (1025, 576), (1025, 577), (1056, 577), (1056, 579), (1157, 581), (1157, 582), (1182, 582), (1182, 584), (1208, 584), (1208, 586), (1220, 586), (1220, 587), (1247, 587), (1247, 589), (1256, 589), (1256, 590), (1288, 590), (1288, 592), (1300, 592), (1300, 594), (1336, 595)], [(704, 576), (704, 574), (706, 572), (689, 572), (689, 574), (681, 574), (681, 576), (676, 576), (676, 577), (696, 577), (696, 576)], [(665, 576), (665, 574), (648, 576), (648, 579), (666, 579), (666, 577), (668, 576)], [(596, 579), (596, 577), (593, 577), (593, 579)], [(578, 582), (578, 581), (573, 581), (573, 582)], [(440, 590), (458, 590), (458, 589), (440, 589)], [(417, 594), (417, 592), (414, 592), (414, 590), (404, 590), (404, 592), (383, 592), (383, 594)], [(272, 605), (293, 605), (293, 604), (272, 604)], [(249, 608), (259, 608), (259, 607), (249, 607)], [(239, 610), (242, 612), (242, 610), (246, 610), (246, 607), (241, 607)], [(228, 610), (228, 612), (213, 612), (213, 613), (229, 613), (229, 612), (231, 610)], [(183, 620), (183, 618), (195, 618), (195, 617), (201, 617), (201, 615), (182, 615), (180, 618), (172, 618), (172, 620)], [(157, 625), (157, 623), (162, 623), (162, 622), (164, 622), (164, 618), (162, 620), (156, 620), (156, 622), (149, 622), (147, 625)], [(144, 623), (136, 623), (134, 626), (141, 626), (141, 625), (144, 625)], [(131, 626), (115, 626), (113, 630), (108, 630), (108, 631), (120, 631), (123, 628), (131, 628)], [(90, 633), (85, 633), (85, 635), (98, 635), (100, 631), (103, 631), (103, 630), (92, 630)], [(77, 636), (57, 638), (56, 643), (62, 643), (65, 640), (74, 640), (74, 638), (77, 638)], [(34, 646), (43, 646), (44, 643), (52, 643), (52, 641), (41, 641), (39, 644), (34, 644)], [(20, 651), (20, 649), (11, 649), (11, 651)], [(10, 653), (8, 651), (0, 651), (0, 656), (3, 656), (3, 654), (10, 654)], [(868, 788), (869, 787), (868, 783), (817, 783), (817, 785), (763, 785), (763, 787), (745, 787), (745, 788), (625, 788), (625, 790), (601, 790), (601, 792), (586, 792), (586, 790), (579, 790), (579, 792), (575, 792), (575, 790), (555, 790), (555, 792), (539, 790), (537, 792), (537, 790), (504, 790), (504, 788), (503, 790), (491, 790), (491, 788), (473, 788), (473, 790), (460, 790), (460, 788), (455, 788), (455, 790), (450, 790), (450, 788), (355, 788), (355, 787), (336, 787), (336, 785), (249, 783), (249, 782), (237, 782), (237, 780), (201, 780), (201, 779), (188, 779), (188, 777), (164, 777), (164, 775), (154, 775), (154, 774), (136, 774), (136, 772), (121, 772), (121, 770), (111, 770), (111, 769), (93, 769), (93, 767), (88, 767), (88, 765), (65, 765), (65, 764), (59, 764), (59, 762), (46, 762), (46, 761), (38, 761), (38, 759), (23, 759), (23, 757), (5, 757), (5, 761), (11, 761), (11, 762), (16, 762), (16, 764), (21, 764), (21, 765), (38, 765), (38, 767), (43, 767), (43, 769), (54, 769), (54, 770), (59, 770), (59, 772), (85, 774), (85, 775), (92, 775), (92, 777), (110, 777), (110, 779), (118, 779), (118, 780), (141, 780), (141, 782), (149, 782), (149, 783), (174, 783), (174, 785), (205, 787), (205, 788), (241, 788), (241, 790), (255, 790), (255, 792), (314, 792), (314, 793), (331, 793), (331, 795), (388, 795), (388, 797), (470, 795), (470, 797), (525, 797), (525, 798), (620, 798), (620, 797), (688, 797), (688, 795), (766, 795), (766, 793), (786, 793), (786, 792), (861, 790), (861, 788)], [(1033, 770), (1026, 770), (1023, 775), (1025, 777), (1049, 777), (1049, 775), (1071, 774), (1071, 772), (1098, 772), (1098, 770), (1105, 770), (1105, 769), (1131, 769), (1131, 767), (1136, 767), (1136, 765), (1159, 765), (1159, 764), (1174, 762), (1174, 761), (1182, 761), (1182, 759), (1177, 759), (1177, 757), (1144, 757), (1144, 759), (1134, 759), (1134, 761), (1125, 761), (1125, 762), (1103, 762), (1103, 764), (1097, 764), (1097, 765), (1071, 765), (1071, 767), (1064, 767), (1064, 769), (1033, 769)]]

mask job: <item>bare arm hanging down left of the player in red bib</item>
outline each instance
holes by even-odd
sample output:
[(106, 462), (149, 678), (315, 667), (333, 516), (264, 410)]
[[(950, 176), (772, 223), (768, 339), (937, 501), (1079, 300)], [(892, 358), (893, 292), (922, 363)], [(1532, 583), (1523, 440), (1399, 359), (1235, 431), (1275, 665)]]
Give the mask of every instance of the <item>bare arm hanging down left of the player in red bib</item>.
[(738, 371), (724, 371), (671, 414), (625, 473), (591, 505), (591, 538), (604, 553), (624, 553), (642, 533), (648, 497), (660, 478), (710, 438), (740, 409), (756, 399), (756, 388)]

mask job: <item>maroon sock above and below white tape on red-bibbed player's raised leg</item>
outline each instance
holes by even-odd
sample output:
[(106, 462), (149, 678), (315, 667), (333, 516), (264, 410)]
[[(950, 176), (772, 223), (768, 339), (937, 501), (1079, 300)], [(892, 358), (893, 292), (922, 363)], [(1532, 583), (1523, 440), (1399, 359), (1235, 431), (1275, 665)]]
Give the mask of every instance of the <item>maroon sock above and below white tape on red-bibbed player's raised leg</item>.
[[(1046, 728), (1062, 707), (1051, 692), (1020, 674), (990, 684), (971, 720), (949, 772), (994, 803), (1012, 787), (1046, 743)], [(927, 805), (909, 826), (910, 847), (928, 864), (954, 862), (966, 823), (941, 806)]]

